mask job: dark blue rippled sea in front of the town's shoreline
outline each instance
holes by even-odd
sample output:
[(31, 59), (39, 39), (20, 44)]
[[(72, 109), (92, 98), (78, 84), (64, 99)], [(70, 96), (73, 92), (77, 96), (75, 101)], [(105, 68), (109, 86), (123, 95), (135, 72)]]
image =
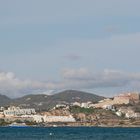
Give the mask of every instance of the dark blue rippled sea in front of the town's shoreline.
[(0, 140), (140, 140), (140, 128), (0, 127)]

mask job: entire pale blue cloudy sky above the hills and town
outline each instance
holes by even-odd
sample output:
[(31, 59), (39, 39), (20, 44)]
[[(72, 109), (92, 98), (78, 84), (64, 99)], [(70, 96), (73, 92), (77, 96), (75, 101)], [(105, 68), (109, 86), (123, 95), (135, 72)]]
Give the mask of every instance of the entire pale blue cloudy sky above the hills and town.
[(139, 0), (0, 0), (0, 94), (140, 91)]

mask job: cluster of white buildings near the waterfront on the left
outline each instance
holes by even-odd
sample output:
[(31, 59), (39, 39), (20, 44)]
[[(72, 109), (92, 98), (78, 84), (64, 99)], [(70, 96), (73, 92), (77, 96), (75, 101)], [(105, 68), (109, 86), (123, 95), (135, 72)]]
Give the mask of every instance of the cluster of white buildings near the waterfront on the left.
[(19, 107), (11, 106), (8, 109), (3, 109), (0, 112), (0, 118), (7, 118), (10, 120), (32, 120), (37, 123), (41, 122), (76, 122), (75, 118), (71, 115), (69, 116), (47, 116), (37, 114), (35, 109), (21, 109)]

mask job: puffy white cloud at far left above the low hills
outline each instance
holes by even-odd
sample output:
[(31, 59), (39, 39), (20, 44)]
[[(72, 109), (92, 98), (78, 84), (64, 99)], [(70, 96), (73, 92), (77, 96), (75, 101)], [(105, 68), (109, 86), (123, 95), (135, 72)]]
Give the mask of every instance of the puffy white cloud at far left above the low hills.
[(20, 80), (12, 72), (0, 72), (0, 93), (7, 96), (22, 96), (39, 90), (47, 90), (47, 84), (38, 81)]

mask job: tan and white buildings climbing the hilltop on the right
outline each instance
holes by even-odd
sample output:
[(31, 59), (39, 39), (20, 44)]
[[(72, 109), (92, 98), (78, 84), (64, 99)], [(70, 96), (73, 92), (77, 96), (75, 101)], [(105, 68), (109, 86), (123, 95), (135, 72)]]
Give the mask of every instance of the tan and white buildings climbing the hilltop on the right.
[(124, 108), (119, 108), (118, 110), (115, 109), (115, 105), (127, 105), (127, 104), (135, 104), (140, 102), (140, 94), (139, 93), (125, 93), (125, 94), (120, 94), (118, 96), (115, 96), (114, 98), (110, 99), (104, 99), (99, 101), (96, 104), (93, 104), (91, 102), (86, 102), (86, 103), (79, 103), (79, 102), (74, 102), (72, 105), (73, 106), (79, 106), (79, 107), (84, 107), (84, 108), (102, 108), (106, 110), (112, 110), (116, 112), (117, 116), (124, 116), (125, 118), (140, 118), (140, 113), (135, 112), (133, 109), (124, 107)]

